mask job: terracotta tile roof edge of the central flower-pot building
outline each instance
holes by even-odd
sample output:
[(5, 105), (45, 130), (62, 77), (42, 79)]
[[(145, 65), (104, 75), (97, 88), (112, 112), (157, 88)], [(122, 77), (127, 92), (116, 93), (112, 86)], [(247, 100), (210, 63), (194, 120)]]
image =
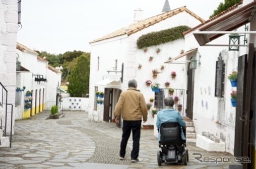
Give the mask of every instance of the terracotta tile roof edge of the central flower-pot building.
[(142, 21), (139, 21), (137, 23), (134, 23), (134, 24), (131, 24), (127, 27), (124, 27), (124, 28), (121, 28), (117, 31), (114, 31), (108, 35), (105, 35), (101, 38), (98, 38), (96, 40), (93, 40), (90, 42), (91, 43), (95, 43), (95, 42), (99, 42), (99, 41), (102, 41), (102, 40), (106, 40), (106, 39), (110, 39), (110, 38), (114, 38), (114, 37), (117, 37), (117, 36), (121, 36), (121, 35), (127, 35), (127, 36), (130, 36), (136, 32), (139, 32), (147, 27), (150, 27), (158, 22), (161, 22), (167, 18), (170, 18), (174, 15), (177, 15), (179, 13), (182, 13), (182, 12), (186, 12), (188, 13), (189, 15), (195, 17), (197, 20), (199, 20), (200, 22), (205, 22), (204, 19), (200, 18), (198, 15), (194, 14), (193, 12), (189, 11), (186, 7), (180, 7), (180, 8), (177, 8), (175, 10), (172, 10), (172, 11), (169, 11), (169, 12), (165, 12), (165, 13), (162, 13), (162, 14), (159, 14), (159, 15), (156, 15), (156, 16), (153, 16), (151, 18), (148, 18), (148, 19), (145, 19), (145, 20), (142, 20)]

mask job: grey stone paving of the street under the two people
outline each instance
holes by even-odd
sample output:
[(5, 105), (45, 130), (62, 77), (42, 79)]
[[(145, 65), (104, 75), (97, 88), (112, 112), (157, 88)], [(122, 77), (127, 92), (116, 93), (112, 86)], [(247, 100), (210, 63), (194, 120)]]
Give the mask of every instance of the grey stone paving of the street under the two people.
[(131, 163), (132, 135), (124, 160), (119, 160), (121, 128), (114, 123), (91, 122), (85, 112), (64, 112), (61, 119), (48, 119), (48, 111), (15, 122), (11, 148), (0, 148), (0, 168), (229, 168), (230, 163), (201, 163), (192, 153), (203, 157), (232, 157), (228, 153), (207, 152), (187, 143), (189, 161), (157, 164), (157, 138), (153, 130), (142, 130), (140, 162)]

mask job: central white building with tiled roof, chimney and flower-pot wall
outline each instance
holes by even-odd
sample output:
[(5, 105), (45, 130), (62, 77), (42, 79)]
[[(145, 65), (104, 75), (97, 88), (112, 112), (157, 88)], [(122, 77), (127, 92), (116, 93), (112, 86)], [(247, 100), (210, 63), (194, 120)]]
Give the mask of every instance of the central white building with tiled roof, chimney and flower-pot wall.
[[(135, 16), (138, 12), (135, 11)], [(140, 21), (138, 21), (140, 20)], [(166, 64), (161, 71), (161, 65), (169, 57), (174, 57), (184, 50), (185, 41), (183, 38), (174, 40), (170, 43), (147, 47), (148, 51), (138, 49), (137, 40), (145, 34), (162, 31), (178, 26), (195, 27), (203, 23), (204, 20), (189, 11), (186, 7), (181, 7), (172, 11), (161, 13), (148, 19), (135, 18), (135, 22), (127, 27), (112, 32), (106, 36), (96, 39), (91, 44), (91, 69), (90, 69), (90, 97), (89, 97), (89, 119), (95, 121), (112, 121), (113, 110), (121, 91), (125, 91), (127, 82), (135, 78), (138, 81), (138, 89), (143, 93), (146, 102), (155, 98), (156, 107), (157, 96), (150, 87), (146, 86), (146, 80), (153, 83), (160, 83), (160, 88), (165, 88), (164, 83), (170, 81), (170, 87), (178, 89), (177, 95), (180, 102), (185, 103), (186, 84), (183, 79), (186, 78), (185, 67), (182, 64)], [(157, 49), (160, 52), (157, 53)], [(154, 59), (149, 61), (149, 57)], [(107, 64), (106, 64), (107, 63)], [(139, 69), (138, 65), (142, 64)], [(152, 70), (160, 71), (157, 78), (153, 78)], [(177, 76), (171, 78), (171, 71), (175, 71)], [(121, 78), (121, 79), (120, 79)], [(97, 104), (95, 92), (105, 93), (104, 104)], [(168, 89), (164, 90), (164, 96), (168, 96)], [(182, 112), (185, 115), (185, 112)], [(146, 124), (153, 125), (152, 113), (149, 111)]]

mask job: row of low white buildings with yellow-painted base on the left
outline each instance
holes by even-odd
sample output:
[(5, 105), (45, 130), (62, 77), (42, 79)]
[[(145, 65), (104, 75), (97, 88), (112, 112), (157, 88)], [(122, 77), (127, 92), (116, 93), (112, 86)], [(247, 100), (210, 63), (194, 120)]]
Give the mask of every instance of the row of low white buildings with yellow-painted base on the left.
[[(21, 70), (17, 71), (16, 119), (26, 119), (56, 104), (57, 87), (61, 82), (61, 71), (48, 65), (48, 61), (39, 57), (32, 49), (17, 43), (17, 54), (21, 62)], [(31, 108), (26, 109), (26, 92), (31, 91)]]

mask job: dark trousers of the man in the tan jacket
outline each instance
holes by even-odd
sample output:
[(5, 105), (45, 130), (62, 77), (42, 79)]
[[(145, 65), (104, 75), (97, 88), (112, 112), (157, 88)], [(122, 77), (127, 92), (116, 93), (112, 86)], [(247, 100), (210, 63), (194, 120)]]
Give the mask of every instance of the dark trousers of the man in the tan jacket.
[(131, 152), (131, 158), (137, 159), (140, 151), (140, 138), (141, 138), (141, 120), (126, 121), (122, 123), (122, 140), (120, 144), (119, 155), (124, 157), (127, 142), (129, 140), (131, 131), (133, 132), (133, 150)]

